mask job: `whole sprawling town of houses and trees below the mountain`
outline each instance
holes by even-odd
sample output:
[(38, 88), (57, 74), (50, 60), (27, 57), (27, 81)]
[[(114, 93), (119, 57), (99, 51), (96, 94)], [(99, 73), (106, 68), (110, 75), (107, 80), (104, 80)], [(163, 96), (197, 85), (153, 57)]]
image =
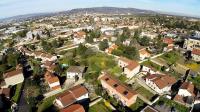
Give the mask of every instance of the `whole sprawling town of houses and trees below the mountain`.
[(199, 19), (56, 15), (1, 25), (0, 41), (2, 112), (199, 110)]

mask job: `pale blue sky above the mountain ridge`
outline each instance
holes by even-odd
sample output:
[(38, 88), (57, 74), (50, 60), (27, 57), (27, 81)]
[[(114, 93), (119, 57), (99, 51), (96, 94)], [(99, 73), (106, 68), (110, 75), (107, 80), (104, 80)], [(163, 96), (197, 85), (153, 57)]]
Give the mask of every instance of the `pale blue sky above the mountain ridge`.
[(0, 18), (102, 6), (150, 9), (200, 17), (200, 0), (0, 0)]

